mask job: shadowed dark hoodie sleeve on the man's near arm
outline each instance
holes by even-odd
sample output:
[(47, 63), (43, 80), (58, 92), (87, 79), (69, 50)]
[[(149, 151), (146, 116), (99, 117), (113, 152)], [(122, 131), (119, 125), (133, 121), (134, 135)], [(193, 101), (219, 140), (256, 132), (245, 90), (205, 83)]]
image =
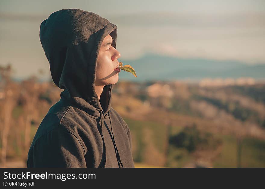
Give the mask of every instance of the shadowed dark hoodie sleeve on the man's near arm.
[(28, 168), (86, 168), (85, 151), (79, 139), (74, 133), (59, 128), (41, 136), (31, 146), (27, 159)]

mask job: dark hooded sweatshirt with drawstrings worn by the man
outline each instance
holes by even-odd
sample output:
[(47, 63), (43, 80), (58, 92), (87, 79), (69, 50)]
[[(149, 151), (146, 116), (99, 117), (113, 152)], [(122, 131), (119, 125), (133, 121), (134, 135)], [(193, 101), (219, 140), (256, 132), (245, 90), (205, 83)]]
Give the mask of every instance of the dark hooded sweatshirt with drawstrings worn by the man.
[(30, 146), (27, 167), (134, 167), (126, 122), (111, 107), (113, 85), (95, 92), (96, 62), (117, 26), (80, 9), (52, 13), (40, 25), (40, 41), (52, 79), (61, 92), (42, 120)]

